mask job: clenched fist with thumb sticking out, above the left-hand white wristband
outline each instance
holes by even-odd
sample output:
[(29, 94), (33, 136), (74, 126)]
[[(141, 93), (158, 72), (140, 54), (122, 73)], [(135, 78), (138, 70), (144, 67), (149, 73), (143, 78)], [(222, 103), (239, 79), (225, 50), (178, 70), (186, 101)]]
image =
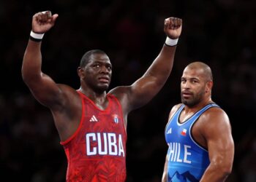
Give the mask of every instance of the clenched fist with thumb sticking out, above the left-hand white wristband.
[(32, 19), (32, 31), (34, 33), (45, 33), (53, 27), (59, 15), (51, 15), (50, 11), (37, 12)]

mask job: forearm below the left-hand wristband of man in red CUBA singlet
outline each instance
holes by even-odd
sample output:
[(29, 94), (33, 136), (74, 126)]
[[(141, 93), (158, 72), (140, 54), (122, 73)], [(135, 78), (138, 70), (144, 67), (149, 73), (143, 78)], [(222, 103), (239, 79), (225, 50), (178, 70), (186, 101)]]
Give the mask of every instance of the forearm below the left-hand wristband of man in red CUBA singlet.
[(41, 76), (42, 55), (40, 49), (41, 42), (29, 40), (21, 69), (24, 81), (29, 82), (29, 80)]

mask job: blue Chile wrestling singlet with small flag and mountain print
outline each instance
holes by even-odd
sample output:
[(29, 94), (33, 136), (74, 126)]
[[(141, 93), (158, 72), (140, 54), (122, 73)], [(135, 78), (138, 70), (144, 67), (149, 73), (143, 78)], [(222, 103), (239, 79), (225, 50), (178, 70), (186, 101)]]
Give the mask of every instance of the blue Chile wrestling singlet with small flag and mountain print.
[(210, 161), (208, 151), (192, 138), (192, 126), (198, 117), (208, 108), (219, 107), (215, 103), (208, 104), (197, 111), (187, 121), (178, 122), (184, 104), (178, 108), (165, 127), (165, 140), (169, 149), (167, 151), (167, 181), (168, 182), (194, 182), (200, 181)]

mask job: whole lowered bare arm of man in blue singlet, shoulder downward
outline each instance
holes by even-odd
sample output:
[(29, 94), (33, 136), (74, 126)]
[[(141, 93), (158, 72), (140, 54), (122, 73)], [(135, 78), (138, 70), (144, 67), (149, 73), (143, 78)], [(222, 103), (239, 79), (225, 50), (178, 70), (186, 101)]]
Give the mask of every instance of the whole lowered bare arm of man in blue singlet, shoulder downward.
[(214, 109), (209, 117), (211, 120), (204, 124), (203, 135), (207, 141), (210, 165), (200, 182), (222, 182), (233, 166), (234, 143), (230, 121), (227, 114), (219, 109)]

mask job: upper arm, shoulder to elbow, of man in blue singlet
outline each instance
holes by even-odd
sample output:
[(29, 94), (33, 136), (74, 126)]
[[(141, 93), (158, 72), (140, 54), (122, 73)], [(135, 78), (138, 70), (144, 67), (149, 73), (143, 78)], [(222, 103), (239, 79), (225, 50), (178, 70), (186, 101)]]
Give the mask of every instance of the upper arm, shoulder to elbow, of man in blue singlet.
[(203, 135), (207, 141), (210, 162), (216, 166), (232, 167), (234, 143), (227, 114), (214, 109), (207, 117)]

